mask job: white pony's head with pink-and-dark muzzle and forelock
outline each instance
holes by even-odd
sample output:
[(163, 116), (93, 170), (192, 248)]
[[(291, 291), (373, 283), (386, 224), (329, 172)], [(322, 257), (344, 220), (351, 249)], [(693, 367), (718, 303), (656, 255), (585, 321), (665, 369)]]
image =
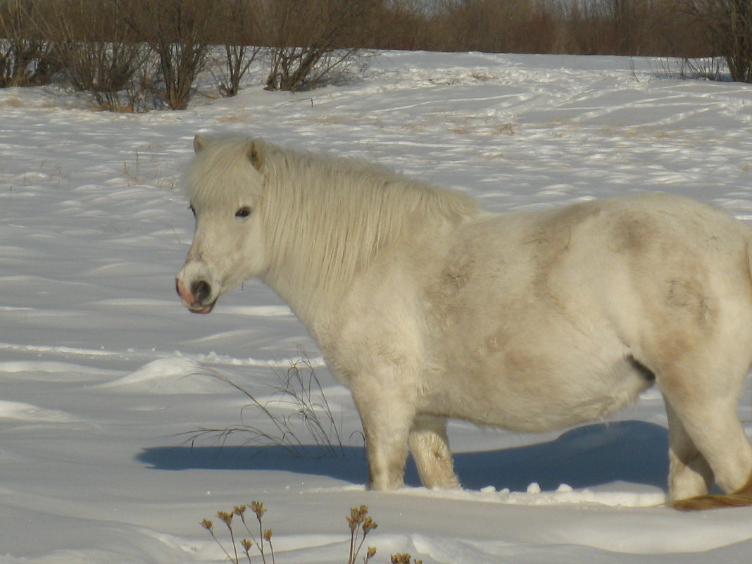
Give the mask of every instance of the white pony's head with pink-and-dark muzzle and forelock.
[(208, 314), (223, 293), (265, 269), (259, 219), (264, 146), (256, 139), (197, 135), (193, 148), (185, 183), (196, 233), (175, 286), (186, 308)]

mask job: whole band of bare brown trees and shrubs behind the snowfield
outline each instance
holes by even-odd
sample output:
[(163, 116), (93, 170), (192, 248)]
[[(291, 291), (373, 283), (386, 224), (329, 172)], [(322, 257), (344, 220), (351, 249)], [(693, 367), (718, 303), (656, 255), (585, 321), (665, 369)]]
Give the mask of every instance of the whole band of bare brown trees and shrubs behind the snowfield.
[[(266, 88), (296, 90), (362, 69), (371, 50), (725, 56), (724, 49), (752, 49), (749, 5), (750, 0), (0, 0), (0, 86), (64, 80), (91, 92), (103, 108), (181, 109), (210, 63), (220, 93), (232, 96), (253, 62), (262, 68)], [(724, 34), (735, 39), (723, 39)], [(740, 66), (752, 80), (752, 65)]]

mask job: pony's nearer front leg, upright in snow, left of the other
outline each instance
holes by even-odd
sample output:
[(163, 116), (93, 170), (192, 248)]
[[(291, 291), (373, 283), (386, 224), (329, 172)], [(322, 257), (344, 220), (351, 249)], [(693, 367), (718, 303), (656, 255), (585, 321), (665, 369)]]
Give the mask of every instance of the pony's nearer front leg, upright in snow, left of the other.
[(353, 382), (350, 387), (365, 435), (368, 487), (396, 490), (404, 484), (414, 392), (374, 380)]

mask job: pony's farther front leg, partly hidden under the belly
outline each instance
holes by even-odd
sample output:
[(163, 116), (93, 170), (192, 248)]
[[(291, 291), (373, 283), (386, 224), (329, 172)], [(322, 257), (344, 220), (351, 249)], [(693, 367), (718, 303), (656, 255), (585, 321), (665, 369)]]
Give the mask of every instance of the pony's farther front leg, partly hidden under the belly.
[(410, 429), (410, 450), (424, 487), (459, 488), (447, 438), (447, 420), (418, 416)]

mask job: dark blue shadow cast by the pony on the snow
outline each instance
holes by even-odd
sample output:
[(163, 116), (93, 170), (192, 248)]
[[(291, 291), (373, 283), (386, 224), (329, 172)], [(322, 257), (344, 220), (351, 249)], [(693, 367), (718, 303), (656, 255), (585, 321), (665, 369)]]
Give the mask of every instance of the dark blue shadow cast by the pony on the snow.
[[(338, 458), (293, 458), (281, 447), (211, 446), (150, 447), (138, 460), (159, 470), (280, 470), (322, 475), (362, 484), (368, 475), (365, 450), (343, 447)], [(559, 484), (594, 487), (614, 481), (666, 487), (668, 438), (662, 426), (644, 421), (598, 423), (572, 429), (553, 441), (524, 447), (483, 452), (456, 453), (455, 469), (462, 486), (478, 490), (493, 486), (524, 491), (532, 482), (543, 490)], [(412, 461), (405, 483), (419, 486)]]

